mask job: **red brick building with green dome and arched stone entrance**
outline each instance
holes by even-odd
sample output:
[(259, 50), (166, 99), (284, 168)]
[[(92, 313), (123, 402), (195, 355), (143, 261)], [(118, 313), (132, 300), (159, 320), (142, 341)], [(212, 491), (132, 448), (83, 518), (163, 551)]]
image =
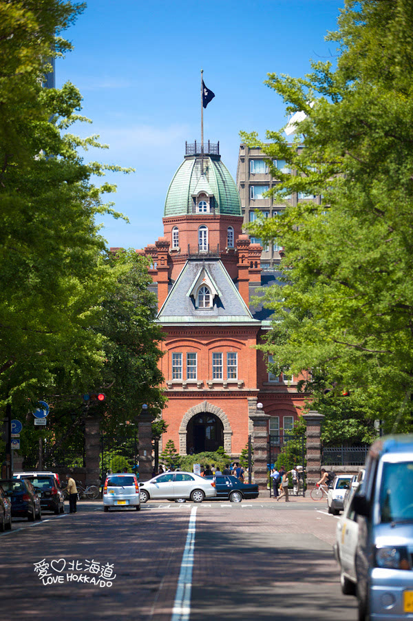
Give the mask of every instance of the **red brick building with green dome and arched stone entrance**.
[(153, 259), (158, 322), (167, 335), (163, 442), (172, 439), (182, 455), (224, 446), (236, 457), (257, 402), (277, 435), (292, 428), (304, 395), (298, 378), (269, 374), (255, 348), (270, 324), (268, 311), (251, 299), (277, 273), (262, 272), (262, 247), (242, 234), (240, 196), (218, 145), (202, 156), (195, 151), (187, 145), (167, 191), (164, 236), (138, 251)]

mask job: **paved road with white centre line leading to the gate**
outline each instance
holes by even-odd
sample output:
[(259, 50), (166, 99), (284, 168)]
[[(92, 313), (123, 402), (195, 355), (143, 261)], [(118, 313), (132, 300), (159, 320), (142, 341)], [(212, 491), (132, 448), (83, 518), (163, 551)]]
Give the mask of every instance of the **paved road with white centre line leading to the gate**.
[[(3, 620), (357, 619), (324, 503), (147, 503), (15, 520), (0, 534)], [(184, 562), (182, 562), (182, 558)]]

